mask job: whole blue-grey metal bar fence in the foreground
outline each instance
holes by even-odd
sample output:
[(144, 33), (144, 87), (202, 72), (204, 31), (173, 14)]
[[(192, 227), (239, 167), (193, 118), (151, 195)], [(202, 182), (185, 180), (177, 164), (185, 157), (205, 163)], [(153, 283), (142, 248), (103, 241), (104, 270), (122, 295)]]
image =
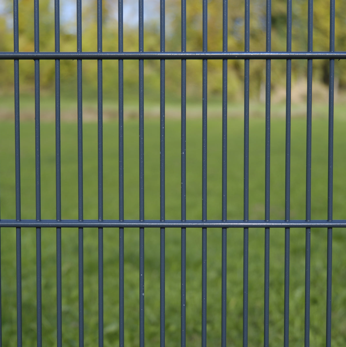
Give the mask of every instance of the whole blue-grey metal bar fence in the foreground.
[[(60, 52), (59, 42), (59, 0), (55, 0), (55, 51), (39, 50), (38, 0), (34, 0), (35, 49), (34, 52), (19, 51), (18, 0), (14, 0), (14, 51), (0, 52), (0, 59), (14, 61), (15, 76), (15, 165), (16, 165), (16, 218), (1, 219), (0, 227), (16, 228), (16, 268), (17, 268), (17, 344), (22, 345), (22, 287), (21, 287), (21, 228), (36, 228), (37, 246), (37, 345), (42, 345), (42, 292), (41, 292), (41, 228), (56, 228), (57, 231), (57, 345), (62, 344), (62, 303), (61, 303), (61, 229), (78, 228), (79, 232), (79, 345), (84, 344), (84, 299), (83, 299), (83, 228), (98, 228), (98, 326), (99, 345), (103, 346), (103, 228), (119, 228), (119, 345), (124, 345), (124, 229), (139, 228), (139, 334), (140, 346), (144, 346), (144, 231), (145, 228), (160, 228), (160, 345), (165, 344), (165, 228), (181, 228), (181, 346), (186, 343), (185, 288), (186, 288), (186, 233), (188, 228), (202, 229), (202, 287), (201, 287), (201, 340), (207, 341), (207, 228), (222, 229), (222, 346), (226, 346), (226, 274), (227, 274), (227, 228), (243, 228), (243, 346), (248, 345), (248, 244), (249, 228), (265, 228), (265, 297), (264, 297), (264, 346), (269, 344), (269, 233), (270, 228), (285, 228), (285, 299), (284, 299), (284, 346), (288, 346), (289, 328), (289, 245), (290, 228), (306, 228), (305, 254), (305, 346), (309, 346), (310, 322), (310, 229), (327, 228), (327, 324), (326, 345), (331, 345), (331, 274), (332, 274), (332, 228), (346, 227), (346, 220), (334, 220), (332, 216), (333, 196), (333, 112), (334, 112), (334, 59), (345, 59), (346, 52), (335, 52), (335, 3), (330, 1), (330, 49), (328, 52), (316, 52), (312, 49), (312, 6), (309, 0), (308, 49), (304, 52), (292, 52), (292, 1), (287, 0), (287, 49), (284, 52), (271, 51), (271, 1), (266, 5), (266, 51), (250, 51), (250, 0), (245, 0), (245, 47), (241, 52), (227, 51), (227, 11), (228, 2), (223, 1), (223, 51), (209, 52), (207, 48), (207, 0), (202, 0), (203, 47), (200, 52), (188, 52), (186, 47), (186, 0), (181, 1), (181, 51), (165, 51), (165, 1), (160, 1), (160, 51), (144, 51), (144, 1), (139, 0), (139, 47), (137, 52), (123, 51), (123, 1), (118, 1), (118, 51), (102, 50), (102, 0), (97, 0), (97, 52), (82, 51), (81, 8), (82, 1), (77, 0), (77, 51)], [(36, 218), (21, 219), (20, 191), (20, 144), (19, 144), (19, 62), (29, 59), (35, 62), (35, 167), (36, 167)], [(56, 219), (41, 219), (41, 178), (40, 178), (40, 60), (55, 61), (55, 121), (56, 121)], [(78, 82), (78, 220), (61, 218), (61, 152), (60, 152), (60, 60), (77, 60)], [(83, 142), (82, 142), (82, 62), (85, 59), (97, 60), (98, 82), (98, 219), (84, 220), (83, 216)], [(103, 60), (117, 60), (119, 64), (119, 220), (103, 219), (103, 104), (102, 104), (102, 64)], [(124, 219), (124, 142), (123, 142), (123, 61), (127, 59), (139, 62), (139, 220)], [(160, 61), (160, 220), (146, 220), (144, 217), (144, 60)], [(181, 61), (181, 219), (165, 219), (165, 61)], [(186, 215), (186, 62), (189, 59), (202, 61), (202, 220), (187, 220)], [(223, 63), (222, 82), (222, 219), (207, 218), (207, 62), (219, 59)], [(227, 61), (243, 60), (244, 65), (244, 215), (242, 220), (227, 219)], [(265, 219), (249, 220), (249, 81), (250, 60), (266, 61), (265, 87)], [(285, 219), (270, 219), (270, 72), (271, 60), (286, 61), (286, 151), (285, 151)], [(290, 149), (291, 149), (291, 64), (294, 59), (307, 60), (307, 146), (306, 146), (306, 219), (290, 219)], [(312, 119), (312, 62), (313, 59), (329, 59), (329, 135), (328, 135), (328, 219), (311, 219), (311, 119)], [(44, 264), (43, 264), (44, 266)], [(6, 298), (2, 298), (3, 300)]]

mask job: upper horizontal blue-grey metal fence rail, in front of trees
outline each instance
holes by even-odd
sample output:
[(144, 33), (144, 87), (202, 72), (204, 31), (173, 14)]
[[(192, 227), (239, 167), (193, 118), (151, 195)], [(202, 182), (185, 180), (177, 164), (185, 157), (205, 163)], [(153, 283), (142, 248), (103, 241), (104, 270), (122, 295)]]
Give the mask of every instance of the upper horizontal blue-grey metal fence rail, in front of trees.
[(0, 52), (0, 59), (346, 59), (346, 52)]

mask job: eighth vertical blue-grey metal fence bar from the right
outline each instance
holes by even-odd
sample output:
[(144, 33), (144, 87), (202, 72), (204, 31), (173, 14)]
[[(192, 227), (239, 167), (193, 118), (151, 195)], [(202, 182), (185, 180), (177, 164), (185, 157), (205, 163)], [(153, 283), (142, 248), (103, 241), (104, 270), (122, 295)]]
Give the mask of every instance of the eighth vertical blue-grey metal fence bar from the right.
[[(181, 0), (181, 51), (186, 52), (186, 0)], [(181, 220), (186, 221), (186, 59), (181, 60)], [(181, 228), (180, 345), (186, 345), (186, 228)]]

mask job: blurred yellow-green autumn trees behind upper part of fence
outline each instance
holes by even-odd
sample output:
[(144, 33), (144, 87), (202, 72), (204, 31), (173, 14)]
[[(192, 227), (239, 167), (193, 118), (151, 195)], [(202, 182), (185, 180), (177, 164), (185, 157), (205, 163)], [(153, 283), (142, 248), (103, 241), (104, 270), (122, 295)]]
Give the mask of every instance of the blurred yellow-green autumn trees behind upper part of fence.
[[(202, 50), (202, 1), (187, 1), (187, 50)], [(34, 8), (32, 0), (19, 0), (19, 50), (34, 50)], [(76, 51), (76, 2), (61, 0), (60, 42), (62, 51)], [(181, 2), (166, 0), (166, 50), (181, 50)], [(222, 7), (223, 0), (208, 0), (208, 50), (222, 50)], [(40, 50), (54, 51), (54, 6), (51, 0), (40, 0)], [(0, 15), (0, 50), (13, 49), (13, 2), (3, 0)], [(118, 49), (118, 7), (110, 0), (102, 2), (103, 11), (103, 51), (116, 51)], [(286, 0), (276, 0), (271, 7), (271, 50), (286, 50)], [(313, 3), (313, 50), (329, 51), (329, 1), (314, 0)], [(136, 2), (124, 3), (124, 50), (138, 50), (138, 5)], [(295, 0), (292, 3), (292, 50), (305, 51), (307, 49), (308, 28), (308, 2)], [(145, 51), (159, 50), (159, 2), (157, 0), (145, 1), (144, 23), (144, 49)], [(346, 45), (344, 27), (346, 24), (346, 2), (336, 0), (335, 16), (335, 50), (343, 51)], [(82, 4), (82, 47), (83, 51), (97, 50), (97, 2), (84, 0)], [(228, 51), (244, 50), (244, 1), (228, 2)], [(263, 0), (250, 1), (250, 51), (266, 50), (266, 3)], [(13, 84), (11, 69), (1, 62), (0, 72), (3, 77), (1, 89)], [(314, 78), (319, 82), (328, 83), (329, 61), (314, 60)], [(86, 88), (95, 94), (97, 80), (97, 65), (84, 64), (83, 81)], [(138, 86), (138, 70), (134, 64), (125, 65), (125, 88), (133, 91)], [(273, 61), (271, 70), (271, 83), (273, 89), (285, 84), (284, 62)], [(30, 62), (20, 63), (20, 81), (22, 90), (32, 90), (34, 68)], [(340, 87), (346, 87), (346, 64), (336, 61), (336, 82)], [(265, 81), (265, 64), (261, 60), (252, 60), (251, 69), (251, 95), (258, 98)], [(306, 74), (306, 61), (296, 61), (293, 65), (293, 83)], [(107, 64), (107, 74), (104, 74), (105, 90), (117, 92), (117, 64)], [(146, 62), (146, 90), (148, 95), (159, 90), (158, 64), (155, 61)], [(221, 62), (209, 60), (208, 79), (209, 95), (219, 97), (221, 93), (222, 68)], [(243, 92), (243, 61), (230, 60), (228, 62), (230, 98), (238, 98)], [(41, 64), (41, 84), (45, 90), (53, 91), (54, 64)], [(71, 90), (76, 81), (76, 64), (66, 61), (61, 69), (62, 92), (64, 88)], [(5, 82), (6, 81), (6, 82)], [(179, 94), (180, 73), (176, 69), (167, 69), (166, 83)], [(199, 61), (188, 62), (188, 96), (200, 98), (201, 92), (201, 64)], [(173, 87), (174, 86), (174, 87)], [(87, 91), (87, 90), (86, 90)], [(69, 94), (69, 92), (67, 92)]]

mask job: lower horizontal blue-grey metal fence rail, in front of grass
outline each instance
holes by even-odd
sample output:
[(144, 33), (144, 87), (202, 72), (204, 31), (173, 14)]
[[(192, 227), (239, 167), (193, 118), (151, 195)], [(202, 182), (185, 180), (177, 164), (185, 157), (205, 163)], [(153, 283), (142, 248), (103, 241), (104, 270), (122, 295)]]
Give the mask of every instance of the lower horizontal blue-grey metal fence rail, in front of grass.
[(346, 228), (346, 220), (0, 220), (0, 228)]

